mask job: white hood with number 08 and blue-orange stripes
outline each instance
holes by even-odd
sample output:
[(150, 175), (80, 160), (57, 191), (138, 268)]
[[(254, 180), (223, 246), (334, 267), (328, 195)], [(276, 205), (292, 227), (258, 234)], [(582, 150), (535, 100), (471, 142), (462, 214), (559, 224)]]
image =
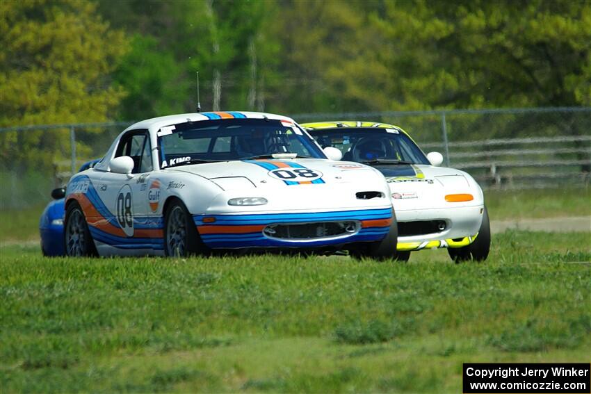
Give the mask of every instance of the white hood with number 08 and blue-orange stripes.
[(187, 172), (209, 179), (224, 190), (255, 186), (287, 188), (298, 184), (330, 185), (378, 182), (383, 179), (372, 167), (353, 162), (293, 158), (225, 161), (170, 167), (166, 171)]

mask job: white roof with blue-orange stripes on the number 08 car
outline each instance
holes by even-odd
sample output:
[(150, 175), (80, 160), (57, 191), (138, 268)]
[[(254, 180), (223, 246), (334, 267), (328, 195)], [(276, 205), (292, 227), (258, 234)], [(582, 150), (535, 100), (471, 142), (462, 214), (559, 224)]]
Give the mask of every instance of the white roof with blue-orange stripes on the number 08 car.
[(149, 131), (158, 131), (163, 126), (170, 126), (172, 124), (179, 124), (185, 122), (200, 122), (202, 120), (218, 120), (218, 119), (273, 119), (282, 120), (284, 122), (295, 123), (291, 117), (283, 115), (275, 115), (273, 113), (262, 112), (243, 112), (243, 111), (215, 111), (215, 112), (201, 112), (201, 113), (181, 113), (178, 115), (168, 115), (161, 117), (153, 117), (152, 119), (142, 120), (129, 126), (125, 131), (133, 129), (148, 129)]

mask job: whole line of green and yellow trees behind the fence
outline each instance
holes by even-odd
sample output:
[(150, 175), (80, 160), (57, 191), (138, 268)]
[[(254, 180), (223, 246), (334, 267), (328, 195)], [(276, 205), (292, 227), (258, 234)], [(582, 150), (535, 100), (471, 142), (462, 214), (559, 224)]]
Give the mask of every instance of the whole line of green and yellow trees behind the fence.
[(2, 1), (0, 126), (193, 111), (197, 71), (204, 110), (588, 106), (590, 47), (577, 0)]

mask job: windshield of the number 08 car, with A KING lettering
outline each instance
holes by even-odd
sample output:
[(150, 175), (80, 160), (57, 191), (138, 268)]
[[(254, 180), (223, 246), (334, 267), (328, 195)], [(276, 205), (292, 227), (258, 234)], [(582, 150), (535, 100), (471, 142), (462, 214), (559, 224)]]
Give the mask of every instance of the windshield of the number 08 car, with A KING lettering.
[(163, 128), (158, 135), (162, 168), (255, 158), (326, 158), (302, 129), (280, 120), (188, 122)]

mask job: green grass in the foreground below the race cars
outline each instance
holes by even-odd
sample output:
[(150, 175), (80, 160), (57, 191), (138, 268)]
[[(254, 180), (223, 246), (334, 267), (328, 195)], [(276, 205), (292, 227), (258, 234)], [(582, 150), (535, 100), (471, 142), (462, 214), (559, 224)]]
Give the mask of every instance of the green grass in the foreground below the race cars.
[(589, 241), (508, 231), (461, 265), (3, 247), (0, 387), (460, 393), (464, 362), (588, 362)]

